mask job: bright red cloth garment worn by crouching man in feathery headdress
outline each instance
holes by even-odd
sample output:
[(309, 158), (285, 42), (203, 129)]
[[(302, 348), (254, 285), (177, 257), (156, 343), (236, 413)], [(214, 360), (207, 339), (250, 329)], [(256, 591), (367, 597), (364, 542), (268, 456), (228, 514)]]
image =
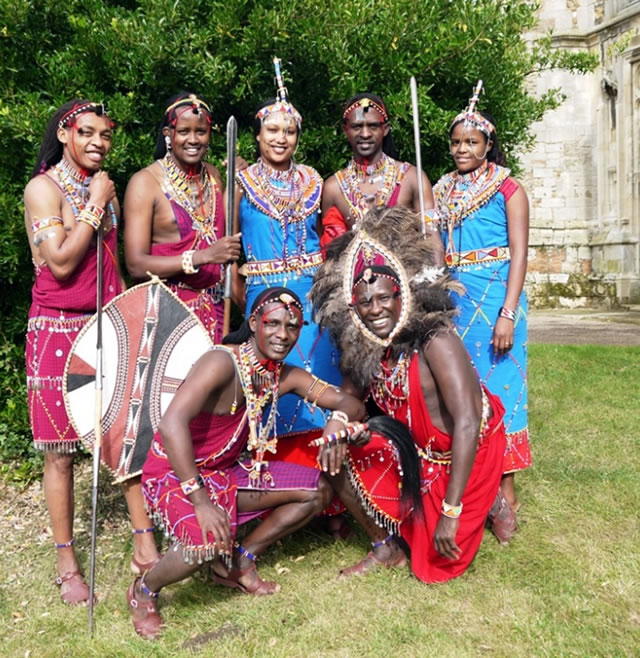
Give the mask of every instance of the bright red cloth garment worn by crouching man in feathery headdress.
[[(441, 516), (442, 500), (449, 484), (449, 466), (421, 459), (424, 515), (414, 512), (403, 521), (405, 514), (398, 493), (400, 475), (397, 466), (394, 467), (394, 461), (388, 458), (383, 443), (377, 441), (363, 449), (354, 448), (349, 451), (351, 480), (355, 483), (360, 499), (376, 520), (391, 531), (401, 523), (400, 534), (411, 548), (411, 568), (417, 578), (427, 583), (456, 578), (471, 564), (482, 542), (485, 520), (500, 486), (506, 444), (502, 422), (504, 408), (497, 396), (488, 391), (486, 394), (493, 415), (487, 433), (478, 446), (462, 496), (464, 509), (456, 534), (456, 543), (462, 553), (457, 560), (442, 557), (433, 543)], [(430, 445), (437, 452), (451, 449), (451, 436), (433, 424), (424, 401), (417, 353), (409, 367), (408, 403), (396, 410), (394, 416), (406, 425), (408, 418), (411, 418), (413, 438), (419, 448), (426, 451)]]

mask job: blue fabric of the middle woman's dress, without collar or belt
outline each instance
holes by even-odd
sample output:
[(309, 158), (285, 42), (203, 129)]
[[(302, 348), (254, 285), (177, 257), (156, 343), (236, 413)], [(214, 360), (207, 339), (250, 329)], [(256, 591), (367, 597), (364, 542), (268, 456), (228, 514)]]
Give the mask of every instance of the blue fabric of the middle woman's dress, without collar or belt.
[[(246, 196), (240, 200), (239, 215), (247, 261), (281, 260), (285, 241), (280, 222), (256, 208)], [(303, 221), (289, 224), (286, 236), (289, 258), (320, 250), (317, 221), (318, 211), (308, 215)], [(306, 228), (304, 243), (300, 240), (303, 223)], [(265, 288), (285, 286), (294, 291), (302, 300), (304, 319), (308, 324), (302, 327), (298, 342), (286, 358), (286, 363), (305, 368), (316, 377), (339, 386), (342, 381), (338, 369), (340, 354), (331, 342), (328, 332), (321, 332), (311, 319), (311, 302), (307, 298), (317, 270), (318, 267), (309, 267), (298, 272), (247, 277), (245, 314), (250, 312), (255, 298)], [(276, 422), (278, 436), (319, 429), (324, 425), (325, 413), (305, 403), (297, 395), (289, 394), (279, 399)]]

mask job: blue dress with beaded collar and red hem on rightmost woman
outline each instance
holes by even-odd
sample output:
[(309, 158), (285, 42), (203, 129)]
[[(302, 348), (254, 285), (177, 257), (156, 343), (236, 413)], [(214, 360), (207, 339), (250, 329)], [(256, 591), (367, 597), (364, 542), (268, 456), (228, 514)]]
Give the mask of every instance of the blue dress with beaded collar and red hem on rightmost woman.
[(524, 290), (516, 309), (512, 349), (505, 356), (495, 356), (490, 343), (507, 291), (510, 257), (506, 200), (516, 189), (509, 170), (494, 163), (486, 163), (469, 174), (447, 174), (434, 187), (446, 262), (452, 276), (466, 290), (462, 295), (453, 293), (460, 310), (455, 319), (458, 333), (481, 382), (500, 397), (505, 408), (505, 473), (531, 465), (528, 309)]

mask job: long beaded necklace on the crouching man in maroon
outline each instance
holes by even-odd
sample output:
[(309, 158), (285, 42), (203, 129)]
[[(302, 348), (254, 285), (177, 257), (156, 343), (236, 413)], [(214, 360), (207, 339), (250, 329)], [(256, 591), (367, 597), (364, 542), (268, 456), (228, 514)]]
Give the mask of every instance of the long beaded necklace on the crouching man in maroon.
[[(267, 465), (264, 460), (265, 453), (275, 454), (278, 444), (275, 424), (282, 363), (278, 363), (273, 370), (263, 367), (250, 340), (238, 346), (238, 362), (238, 376), (249, 416), (247, 447), (255, 452), (255, 457), (251, 461), (249, 481), (252, 486), (259, 485), (261, 481), (271, 483), (273, 486), (269, 471), (262, 472), (262, 469)], [(265, 408), (269, 403), (271, 406), (265, 417)]]

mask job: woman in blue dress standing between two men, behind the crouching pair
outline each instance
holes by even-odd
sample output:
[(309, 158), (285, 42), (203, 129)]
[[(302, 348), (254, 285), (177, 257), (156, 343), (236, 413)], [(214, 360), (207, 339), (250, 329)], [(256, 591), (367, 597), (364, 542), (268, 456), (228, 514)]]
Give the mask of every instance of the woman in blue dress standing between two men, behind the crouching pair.
[[(313, 373), (319, 390), (327, 384), (339, 386), (340, 359), (328, 332), (313, 322), (307, 299), (322, 264), (316, 229), (322, 178), (293, 157), (301, 123), (284, 94), (260, 106), (254, 121), (259, 157), (236, 178), (236, 230), (242, 232), (246, 257), (241, 274), (246, 277), (247, 313), (265, 288), (286, 286), (298, 294), (305, 307), (305, 325), (285, 361)], [(309, 402), (293, 395), (281, 398), (276, 422), (278, 459), (315, 466), (317, 449), (309, 449), (308, 443), (322, 433), (325, 422), (323, 412)]]

